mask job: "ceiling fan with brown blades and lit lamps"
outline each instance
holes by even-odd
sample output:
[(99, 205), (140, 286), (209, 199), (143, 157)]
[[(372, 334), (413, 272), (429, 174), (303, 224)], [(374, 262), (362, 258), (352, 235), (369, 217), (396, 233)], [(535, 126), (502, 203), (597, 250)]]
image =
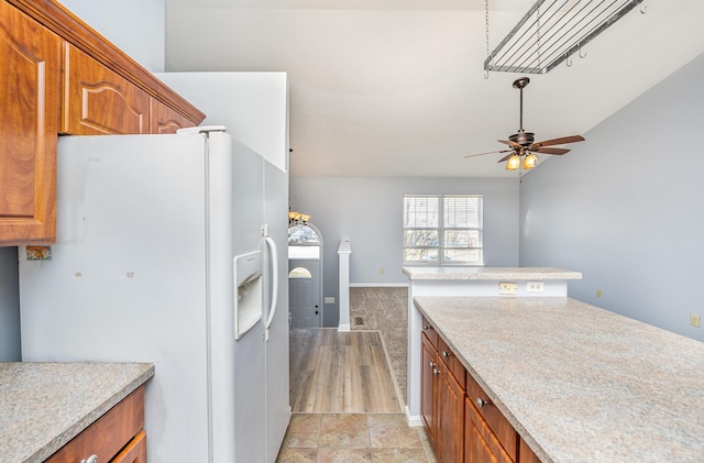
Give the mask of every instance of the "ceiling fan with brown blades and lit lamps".
[(583, 142), (582, 135), (561, 136), (559, 139), (544, 140), (542, 142), (535, 142), (535, 134), (532, 132), (526, 132), (524, 130), (524, 88), (530, 82), (528, 77), (521, 77), (514, 81), (514, 88), (520, 90), (520, 129), (518, 133), (514, 133), (508, 140), (498, 140), (499, 143), (510, 146), (508, 150), (490, 151), (487, 153), (470, 154), (464, 157), (484, 156), (486, 154), (494, 153), (508, 153), (506, 156), (498, 159), (499, 163), (506, 161), (507, 170), (516, 170), (521, 166), (522, 168), (531, 169), (538, 164), (538, 156), (540, 154), (562, 155), (569, 153), (570, 150), (562, 147), (549, 147), (554, 145), (563, 145), (566, 143)]

